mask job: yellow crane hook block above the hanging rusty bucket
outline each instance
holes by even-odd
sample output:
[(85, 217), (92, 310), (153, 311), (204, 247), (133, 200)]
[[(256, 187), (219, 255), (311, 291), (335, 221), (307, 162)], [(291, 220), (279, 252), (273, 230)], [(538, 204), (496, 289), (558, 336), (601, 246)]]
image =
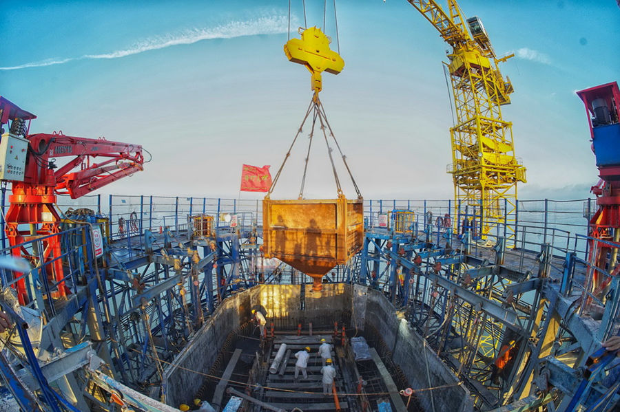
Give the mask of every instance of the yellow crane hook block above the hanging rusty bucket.
[(301, 32), (301, 39), (291, 39), (284, 50), (289, 61), (304, 65), (312, 74), (312, 89), (321, 91), (321, 73), (338, 74), (344, 68), (340, 54), (329, 48), (330, 39), (320, 28), (307, 28)]

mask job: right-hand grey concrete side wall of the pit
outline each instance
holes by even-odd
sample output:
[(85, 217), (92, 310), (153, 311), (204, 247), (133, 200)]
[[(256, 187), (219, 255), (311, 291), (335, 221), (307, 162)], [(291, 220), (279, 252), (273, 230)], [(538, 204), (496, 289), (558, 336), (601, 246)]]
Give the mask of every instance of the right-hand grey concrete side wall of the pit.
[[(368, 289), (364, 296), (357, 291), (357, 288), (356, 286), (354, 299), (358, 301), (353, 301), (356, 312), (351, 321), (359, 324), (356, 318), (365, 315), (366, 322), (378, 330), (386, 345), (391, 348), (392, 360), (400, 366), (411, 388), (455, 385), (417, 393), (422, 407), (426, 411), (436, 412), (472, 411), (473, 402), (469, 391), (462, 385), (456, 386), (459, 380), (454, 373), (430, 347), (425, 345), (424, 339), (409, 327), (409, 323), (398, 318), (395, 307), (384, 294)], [(362, 301), (366, 301), (365, 314), (362, 314)]]

